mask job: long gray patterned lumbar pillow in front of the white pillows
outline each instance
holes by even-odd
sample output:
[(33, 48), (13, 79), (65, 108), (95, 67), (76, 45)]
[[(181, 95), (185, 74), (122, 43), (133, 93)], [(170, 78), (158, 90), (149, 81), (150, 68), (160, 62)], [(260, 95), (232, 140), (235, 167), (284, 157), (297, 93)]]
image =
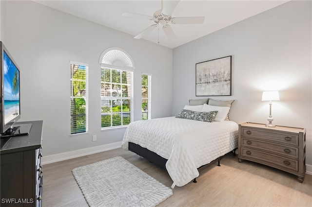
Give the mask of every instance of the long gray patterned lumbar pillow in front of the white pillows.
[(215, 115), (218, 111), (209, 111), (209, 112), (197, 112), (183, 109), (176, 118), (188, 119), (188, 120), (196, 120), (196, 121), (206, 121), (213, 122), (215, 119)]

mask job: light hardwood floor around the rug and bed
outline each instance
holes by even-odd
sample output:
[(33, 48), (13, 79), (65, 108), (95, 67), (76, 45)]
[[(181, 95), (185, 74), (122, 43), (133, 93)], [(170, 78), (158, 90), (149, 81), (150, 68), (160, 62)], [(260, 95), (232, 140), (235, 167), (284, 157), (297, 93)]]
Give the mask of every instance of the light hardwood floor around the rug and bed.
[[(43, 207), (87, 207), (72, 174), (76, 167), (122, 156), (170, 187), (168, 173), (146, 159), (121, 148), (43, 165)], [(250, 161), (238, 163), (228, 155), (215, 165), (199, 169), (197, 183), (175, 187), (159, 207), (312, 207), (312, 175), (303, 183), (296, 176)]]

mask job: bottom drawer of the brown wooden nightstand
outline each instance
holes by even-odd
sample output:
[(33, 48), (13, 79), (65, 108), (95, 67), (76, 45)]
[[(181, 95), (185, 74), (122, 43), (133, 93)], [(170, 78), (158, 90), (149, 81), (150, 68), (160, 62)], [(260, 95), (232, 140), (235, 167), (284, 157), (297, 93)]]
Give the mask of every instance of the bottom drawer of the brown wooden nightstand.
[(286, 168), (296, 172), (298, 171), (298, 160), (295, 159), (271, 155), (269, 153), (244, 147), (241, 148), (241, 156), (272, 167)]

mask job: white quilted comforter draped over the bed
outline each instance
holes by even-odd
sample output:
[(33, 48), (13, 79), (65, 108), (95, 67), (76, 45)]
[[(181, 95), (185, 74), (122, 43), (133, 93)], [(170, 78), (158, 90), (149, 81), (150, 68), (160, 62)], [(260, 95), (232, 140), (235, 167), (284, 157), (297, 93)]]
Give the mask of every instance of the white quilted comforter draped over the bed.
[(122, 140), (168, 159), (166, 169), (174, 186), (184, 186), (199, 173), (197, 168), (237, 147), (238, 125), (234, 121), (203, 122), (175, 117), (132, 122)]

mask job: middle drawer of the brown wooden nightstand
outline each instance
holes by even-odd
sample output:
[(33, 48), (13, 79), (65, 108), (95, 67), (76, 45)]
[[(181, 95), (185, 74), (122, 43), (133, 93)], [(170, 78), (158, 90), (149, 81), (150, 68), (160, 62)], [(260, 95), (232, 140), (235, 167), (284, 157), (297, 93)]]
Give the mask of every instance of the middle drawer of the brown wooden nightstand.
[(242, 138), (241, 145), (298, 159), (298, 148), (292, 146), (278, 145), (272, 142), (266, 142), (252, 138)]

